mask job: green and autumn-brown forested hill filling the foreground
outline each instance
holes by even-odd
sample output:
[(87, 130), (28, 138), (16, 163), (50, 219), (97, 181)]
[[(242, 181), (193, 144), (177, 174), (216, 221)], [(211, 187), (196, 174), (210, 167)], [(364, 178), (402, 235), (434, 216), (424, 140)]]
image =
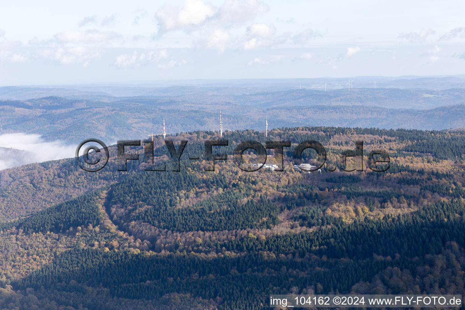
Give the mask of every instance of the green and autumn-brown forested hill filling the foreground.
[[(1, 171), (0, 309), (256, 310), (270, 294), (465, 295), (465, 132), (273, 129), (268, 140), (292, 141), (285, 169), (254, 172), (232, 154), (241, 141), (265, 145), (262, 132), (225, 132), (229, 145), (215, 150), (230, 156), (215, 171), (202, 154), (217, 132), (167, 139), (189, 141), (179, 172), (161, 137), (154, 158), (167, 171), (133, 161), (117, 171), (114, 147), (98, 172), (73, 158)], [(321, 173), (292, 166), (316, 163), (309, 150), (293, 152), (309, 139), (326, 149)], [(357, 140), (364, 169), (342, 171)], [(389, 154), (387, 171), (368, 168), (373, 150)], [(239, 165), (256, 162), (247, 151)]]

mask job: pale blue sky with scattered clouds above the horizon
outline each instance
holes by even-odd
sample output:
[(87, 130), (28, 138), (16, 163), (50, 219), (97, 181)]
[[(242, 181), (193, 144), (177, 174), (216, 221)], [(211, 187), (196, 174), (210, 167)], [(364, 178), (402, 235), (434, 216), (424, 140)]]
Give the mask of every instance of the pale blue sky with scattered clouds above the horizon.
[(453, 75), (465, 1), (9, 1), (0, 86)]

